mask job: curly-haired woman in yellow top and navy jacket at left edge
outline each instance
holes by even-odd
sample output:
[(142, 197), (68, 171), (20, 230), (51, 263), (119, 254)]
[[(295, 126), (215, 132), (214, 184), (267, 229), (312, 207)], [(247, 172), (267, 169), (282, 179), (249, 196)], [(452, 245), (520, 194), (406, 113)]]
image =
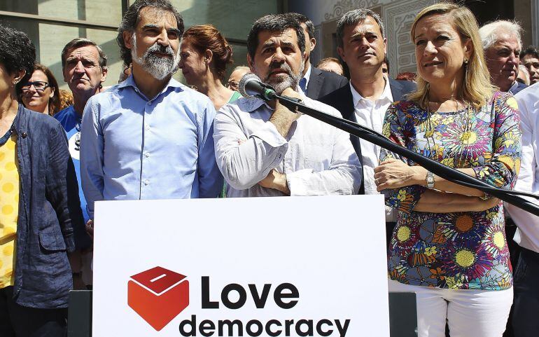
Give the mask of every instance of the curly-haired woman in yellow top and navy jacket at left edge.
[(0, 25), (2, 337), (65, 336), (72, 287), (67, 252), (75, 249), (75, 233), (80, 240), (85, 233), (62, 125), (17, 100), (35, 57), (26, 34)]

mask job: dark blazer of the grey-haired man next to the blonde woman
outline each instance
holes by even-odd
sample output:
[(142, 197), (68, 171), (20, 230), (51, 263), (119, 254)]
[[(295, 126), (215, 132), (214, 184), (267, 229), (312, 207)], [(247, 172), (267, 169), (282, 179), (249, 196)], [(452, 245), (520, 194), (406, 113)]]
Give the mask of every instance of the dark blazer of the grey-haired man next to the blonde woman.
[[(391, 88), (391, 95), (393, 96), (393, 101), (402, 101), (405, 100), (409, 92), (416, 90), (416, 84), (408, 81), (395, 81), (389, 79), (389, 86)], [(342, 118), (345, 118), (352, 122), (358, 122), (356, 119), (356, 108), (353, 106), (352, 92), (350, 90), (350, 85), (346, 85), (342, 88), (331, 92), (329, 95), (325, 95), (318, 99), (320, 102), (333, 106), (335, 109), (339, 110), (342, 114)], [(352, 142), (353, 149), (358, 154), (359, 161), (363, 166), (363, 159), (361, 158), (361, 146), (359, 144), (359, 138), (350, 135), (350, 141)], [(363, 194), (365, 188), (363, 187), (363, 180), (361, 181), (361, 186), (359, 188), (359, 193)]]

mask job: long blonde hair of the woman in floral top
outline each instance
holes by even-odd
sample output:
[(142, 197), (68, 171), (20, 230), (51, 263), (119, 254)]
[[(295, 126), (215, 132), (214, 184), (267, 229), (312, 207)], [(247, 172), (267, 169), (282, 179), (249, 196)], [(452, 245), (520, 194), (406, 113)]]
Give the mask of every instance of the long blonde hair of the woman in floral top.
[[(479, 109), (489, 102), (496, 87), (490, 83), (489, 70), (484, 62), (483, 46), (475, 16), (468, 8), (456, 4), (442, 2), (428, 6), (416, 15), (410, 31), (412, 41), (414, 41), (417, 22), (428, 15), (435, 14), (448, 14), (454, 29), (461, 36), (461, 39), (463, 41), (470, 40), (472, 43), (472, 53), (470, 60), (468, 60), (468, 65), (463, 65), (468, 69), (465, 69), (461, 92), (458, 92), (458, 96)], [(428, 104), (428, 82), (421, 76), (417, 78), (417, 90), (412, 92), (408, 99), (418, 102), (423, 109), (426, 109)]]

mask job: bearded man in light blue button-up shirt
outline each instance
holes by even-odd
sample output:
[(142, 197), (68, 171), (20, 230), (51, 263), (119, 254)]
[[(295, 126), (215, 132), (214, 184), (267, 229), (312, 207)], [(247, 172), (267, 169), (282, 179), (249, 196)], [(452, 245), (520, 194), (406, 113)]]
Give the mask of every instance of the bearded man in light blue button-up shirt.
[(118, 33), (132, 75), (85, 107), (80, 168), (87, 209), (97, 200), (213, 198), (223, 187), (210, 99), (172, 78), (181, 15), (167, 0), (137, 0)]

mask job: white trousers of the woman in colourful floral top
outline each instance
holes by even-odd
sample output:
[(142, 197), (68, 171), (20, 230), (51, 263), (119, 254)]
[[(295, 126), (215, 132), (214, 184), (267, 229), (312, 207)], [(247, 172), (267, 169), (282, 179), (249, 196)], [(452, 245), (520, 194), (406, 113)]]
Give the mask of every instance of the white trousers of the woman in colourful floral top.
[(513, 302), (513, 289), (454, 290), (388, 281), (389, 291), (413, 291), (419, 337), (501, 337)]

